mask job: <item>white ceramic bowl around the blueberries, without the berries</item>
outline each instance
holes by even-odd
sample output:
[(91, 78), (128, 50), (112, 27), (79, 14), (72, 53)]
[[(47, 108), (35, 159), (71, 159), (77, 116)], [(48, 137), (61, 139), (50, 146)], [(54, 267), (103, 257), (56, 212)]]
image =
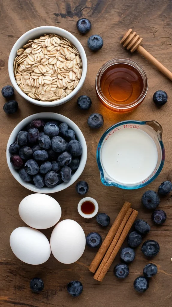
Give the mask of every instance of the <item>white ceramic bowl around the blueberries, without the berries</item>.
[[(81, 155), (81, 160), (80, 160), (80, 164), (78, 169), (76, 170), (75, 174), (72, 176), (71, 180), (67, 183), (63, 182), (60, 185), (57, 185), (55, 188), (48, 188), (48, 187), (44, 187), (44, 188), (37, 188), (35, 185), (29, 183), (29, 182), (25, 182), (23, 180), (21, 180), (18, 172), (16, 169), (13, 168), (13, 166), (10, 163), (10, 153), (9, 153), (9, 147), (10, 145), (16, 141), (16, 137), (17, 134), (19, 133), (19, 131), (21, 131), (25, 126), (27, 126), (30, 122), (32, 122), (33, 119), (52, 119), (52, 120), (59, 120), (61, 122), (66, 122), (67, 125), (75, 131), (76, 137), (78, 139), (78, 141), (81, 143), (82, 145), (82, 155)], [(52, 112), (43, 112), (43, 113), (37, 113), (37, 114), (33, 114), (30, 115), (28, 117), (26, 117), (25, 119), (23, 119), (21, 122), (18, 123), (18, 125), (13, 129), (13, 131), (10, 134), (10, 138), (8, 140), (7, 143), (7, 149), (6, 149), (6, 159), (7, 159), (7, 163), (8, 163), (8, 167), (10, 169), (10, 172), (12, 173), (13, 177), (21, 184), (23, 185), (25, 188), (27, 188), (28, 190), (31, 190), (33, 192), (37, 192), (37, 193), (44, 193), (44, 194), (49, 194), (49, 193), (55, 193), (55, 192), (59, 192), (64, 190), (65, 188), (69, 187), (70, 185), (72, 185), (77, 179), (78, 177), (82, 174), (84, 167), (86, 165), (86, 159), (87, 159), (87, 146), (86, 146), (86, 140), (81, 132), (81, 130), (79, 129), (79, 127), (71, 121), (71, 119), (67, 118), (66, 116), (63, 116), (61, 114), (57, 114), (57, 113), (52, 113)]]

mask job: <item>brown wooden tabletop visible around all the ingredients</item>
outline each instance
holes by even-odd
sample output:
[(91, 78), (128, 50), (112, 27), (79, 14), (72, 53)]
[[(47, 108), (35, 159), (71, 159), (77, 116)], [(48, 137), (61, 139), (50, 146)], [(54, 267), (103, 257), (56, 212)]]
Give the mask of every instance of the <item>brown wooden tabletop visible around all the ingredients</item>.
[[(171, 81), (137, 53), (131, 54), (119, 44), (121, 36), (129, 28), (136, 30), (142, 37), (142, 45), (151, 52), (162, 64), (172, 71), (172, 22), (170, 0), (2, 0), (0, 18), (0, 80), (1, 87), (10, 84), (8, 75), (8, 57), (13, 44), (26, 31), (43, 25), (53, 25), (64, 28), (74, 34), (82, 43), (87, 59), (88, 71), (86, 81), (79, 95), (89, 95), (92, 107), (82, 113), (76, 106), (76, 98), (54, 108), (44, 109), (26, 102), (17, 93), (16, 100), (20, 110), (8, 116), (2, 110), (5, 99), (1, 97), (1, 204), (0, 204), (0, 306), (11, 307), (109, 307), (114, 306), (171, 306), (172, 301), (172, 196), (171, 193), (161, 199), (159, 208), (167, 213), (166, 223), (162, 227), (154, 226), (151, 212), (143, 209), (141, 196), (147, 189), (157, 191), (159, 184), (172, 180), (171, 150), (172, 150), (172, 106)], [(78, 33), (76, 22), (80, 17), (87, 17), (92, 22), (92, 29), (85, 36)], [(92, 34), (100, 34), (104, 40), (103, 48), (93, 53), (87, 47), (87, 39)], [(107, 60), (115, 57), (128, 57), (136, 60), (145, 69), (149, 89), (143, 104), (136, 111), (116, 115), (105, 109), (95, 94), (95, 77), (98, 69)], [(152, 101), (153, 93), (162, 89), (168, 94), (168, 102), (157, 109)], [(53, 111), (63, 114), (73, 120), (82, 130), (88, 147), (86, 167), (80, 177), (89, 184), (87, 196), (94, 197), (99, 204), (99, 212), (107, 213), (111, 223), (116, 218), (125, 200), (139, 211), (138, 217), (151, 225), (151, 231), (146, 239), (159, 242), (160, 252), (152, 260), (158, 266), (158, 274), (152, 278), (149, 289), (143, 294), (133, 289), (134, 279), (142, 274), (143, 267), (148, 263), (141, 253), (141, 247), (136, 249), (136, 258), (130, 264), (130, 274), (126, 280), (119, 281), (113, 275), (113, 267), (120, 261), (117, 255), (113, 265), (102, 283), (93, 279), (88, 266), (96, 251), (86, 247), (82, 257), (74, 264), (59, 263), (53, 255), (40, 266), (31, 266), (17, 259), (9, 244), (11, 232), (25, 226), (18, 214), (20, 201), (31, 192), (22, 187), (11, 175), (6, 163), (6, 144), (11, 131), (25, 117), (42, 111)], [(100, 112), (104, 116), (104, 126), (92, 131), (87, 125), (91, 113)], [(96, 162), (97, 143), (107, 128), (116, 122), (126, 119), (157, 120), (163, 128), (163, 142), (166, 150), (166, 160), (161, 174), (148, 187), (127, 191), (102, 185)], [(91, 231), (99, 232), (104, 239), (109, 227), (101, 228), (95, 218), (84, 220), (78, 215), (77, 204), (82, 198), (75, 192), (75, 184), (62, 192), (51, 194), (62, 208), (63, 219), (74, 219), (84, 229), (87, 235)], [(43, 231), (50, 239), (52, 228)], [(143, 239), (145, 240), (145, 239)], [(125, 242), (126, 244), (126, 242)], [(125, 245), (124, 244), (124, 245)], [(32, 293), (29, 281), (34, 277), (44, 280), (44, 290), (40, 294)], [(73, 298), (67, 293), (66, 285), (71, 280), (80, 280), (83, 293)]]

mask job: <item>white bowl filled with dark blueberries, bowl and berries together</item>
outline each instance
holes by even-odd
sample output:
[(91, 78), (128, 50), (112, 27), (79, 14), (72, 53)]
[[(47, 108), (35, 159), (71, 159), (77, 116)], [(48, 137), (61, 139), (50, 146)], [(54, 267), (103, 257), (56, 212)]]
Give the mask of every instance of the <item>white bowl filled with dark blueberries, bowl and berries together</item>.
[(43, 112), (13, 129), (6, 157), (13, 177), (37, 193), (55, 193), (72, 185), (87, 159), (85, 138), (67, 117)]

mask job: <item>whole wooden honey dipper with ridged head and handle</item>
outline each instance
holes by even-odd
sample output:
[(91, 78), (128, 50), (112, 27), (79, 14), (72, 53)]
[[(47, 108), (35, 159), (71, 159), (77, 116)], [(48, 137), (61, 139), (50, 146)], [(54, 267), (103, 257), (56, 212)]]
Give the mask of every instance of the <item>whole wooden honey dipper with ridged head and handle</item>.
[(158, 60), (155, 59), (146, 49), (140, 46), (141, 41), (143, 40), (136, 32), (132, 32), (132, 29), (129, 29), (127, 33), (123, 36), (120, 41), (120, 44), (123, 44), (123, 47), (127, 47), (127, 50), (134, 52), (137, 50), (142, 56), (144, 56), (149, 62), (155, 65), (160, 72), (162, 72), (166, 77), (172, 81), (172, 73), (163, 66)]

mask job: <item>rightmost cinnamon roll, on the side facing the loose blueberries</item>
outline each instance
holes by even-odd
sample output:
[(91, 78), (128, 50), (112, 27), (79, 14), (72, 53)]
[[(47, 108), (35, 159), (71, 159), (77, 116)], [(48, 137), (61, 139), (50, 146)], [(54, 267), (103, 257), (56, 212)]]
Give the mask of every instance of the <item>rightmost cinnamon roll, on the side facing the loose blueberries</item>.
[(120, 250), (120, 247), (122, 246), (126, 236), (128, 235), (128, 232), (130, 230), (130, 228), (132, 227), (132, 224), (134, 223), (134, 220), (136, 219), (136, 216), (138, 214), (138, 211), (136, 210), (133, 210), (131, 216), (129, 217), (119, 239), (118, 239), (118, 242), (117, 244), (115, 245), (113, 251), (112, 251), (112, 254), (110, 255), (108, 261), (106, 262), (104, 268), (102, 269), (99, 277), (97, 278), (98, 281), (102, 282), (103, 278), (105, 277), (105, 274), (107, 273), (107, 271), (109, 270), (113, 260), (115, 259), (118, 251)]

